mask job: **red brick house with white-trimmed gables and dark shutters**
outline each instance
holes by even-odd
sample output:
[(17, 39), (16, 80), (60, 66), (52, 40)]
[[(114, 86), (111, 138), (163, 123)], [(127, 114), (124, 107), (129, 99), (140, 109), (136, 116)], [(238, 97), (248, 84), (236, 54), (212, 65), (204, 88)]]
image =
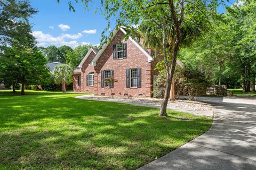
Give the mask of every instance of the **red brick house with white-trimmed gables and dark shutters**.
[[(126, 30), (121, 27), (99, 52), (90, 49), (74, 71), (74, 91), (92, 92), (95, 96), (152, 97), (154, 70), (158, 60), (155, 51), (143, 48), (137, 40), (124, 39)], [(105, 80), (113, 77), (115, 83)], [(92, 79), (94, 81), (92, 81)]]

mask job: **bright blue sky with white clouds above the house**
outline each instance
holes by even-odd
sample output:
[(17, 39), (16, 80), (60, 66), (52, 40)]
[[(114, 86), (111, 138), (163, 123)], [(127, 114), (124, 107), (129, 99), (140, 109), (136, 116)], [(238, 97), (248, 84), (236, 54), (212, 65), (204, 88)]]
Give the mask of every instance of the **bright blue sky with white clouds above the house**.
[[(102, 15), (95, 12), (95, 7), (100, 6), (100, 0), (89, 5), (90, 10), (84, 10), (84, 4), (78, 1), (75, 12), (68, 10), (68, 0), (30, 0), (31, 5), (38, 10), (30, 22), (33, 24), (33, 35), (38, 46), (57, 47), (68, 45), (75, 48), (78, 45), (100, 43), (101, 32), (107, 26), (107, 21)], [(223, 7), (219, 7), (223, 12)], [(115, 20), (111, 23), (115, 27)], [(111, 28), (111, 29), (113, 29)]]

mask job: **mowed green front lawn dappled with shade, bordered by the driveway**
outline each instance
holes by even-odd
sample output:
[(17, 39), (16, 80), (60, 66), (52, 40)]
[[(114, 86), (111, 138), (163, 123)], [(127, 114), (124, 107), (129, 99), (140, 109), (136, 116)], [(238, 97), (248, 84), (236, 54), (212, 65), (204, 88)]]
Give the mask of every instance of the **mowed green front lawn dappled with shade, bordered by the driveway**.
[(74, 98), (0, 91), (0, 169), (136, 169), (207, 131), (210, 118)]

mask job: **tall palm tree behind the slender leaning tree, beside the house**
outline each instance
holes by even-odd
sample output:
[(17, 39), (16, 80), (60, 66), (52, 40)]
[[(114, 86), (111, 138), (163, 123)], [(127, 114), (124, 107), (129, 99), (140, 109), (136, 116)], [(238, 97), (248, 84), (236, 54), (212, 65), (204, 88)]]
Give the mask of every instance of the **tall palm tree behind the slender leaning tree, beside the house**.
[[(184, 24), (181, 28), (181, 47), (186, 47), (191, 44), (191, 42), (197, 38), (198, 36), (202, 35), (204, 31), (208, 28), (203, 27), (201, 24)], [(147, 24), (147, 22), (142, 22), (141, 25), (138, 27), (138, 33), (143, 38), (143, 46), (153, 48), (153, 49), (162, 49), (163, 46), (163, 32), (162, 29), (157, 27), (154, 24)], [(166, 26), (166, 49), (169, 51), (169, 54), (172, 54), (174, 48), (174, 41), (175, 41), (175, 33), (174, 33), (174, 25), (169, 24)], [(172, 55), (171, 55), (172, 56)], [(172, 60), (172, 58), (170, 58)], [(177, 60), (177, 65), (183, 66), (182, 62)], [(172, 85), (171, 85), (171, 95), (170, 99), (172, 101), (175, 100), (175, 87), (174, 87), (174, 77), (172, 78)]]

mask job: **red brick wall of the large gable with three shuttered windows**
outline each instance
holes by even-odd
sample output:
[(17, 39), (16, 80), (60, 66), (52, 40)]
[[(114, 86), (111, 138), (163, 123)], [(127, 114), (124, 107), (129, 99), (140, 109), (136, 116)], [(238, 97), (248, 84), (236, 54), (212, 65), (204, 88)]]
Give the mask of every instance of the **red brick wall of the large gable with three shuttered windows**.
[[(127, 58), (114, 60), (113, 45), (118, 44), (120, 41), (127, 43)], [(133, 68), (141, 68), (141, 88), (126, 88), (126, 69)], [(114, 70), (114, 78), (118, 81), (114, 83), (114, 88), (112, 88), (115, 96), (124, 97), (124, 94), (128, 94), (129, 97), (139, 97), (139, 94), (142, 94), (143, 97), (151, 96), (151, 89), (153, 88), (151, 63), (148, 62), (148, 58), (132, 41), (129, 39), (126, 42), (124, 41), (122, 31), (119, 30), (117, 32), (95, 66), (95, 72), (98, 77), (94, 74), (94, 83), (95, 85), (97, 83), (94, 87), (94, 95), (101, 96), (102, 93), (105, 93), (105, 96), (110, 96), (111, 92), (108, 87), (101, 88), (101, 70)]]

